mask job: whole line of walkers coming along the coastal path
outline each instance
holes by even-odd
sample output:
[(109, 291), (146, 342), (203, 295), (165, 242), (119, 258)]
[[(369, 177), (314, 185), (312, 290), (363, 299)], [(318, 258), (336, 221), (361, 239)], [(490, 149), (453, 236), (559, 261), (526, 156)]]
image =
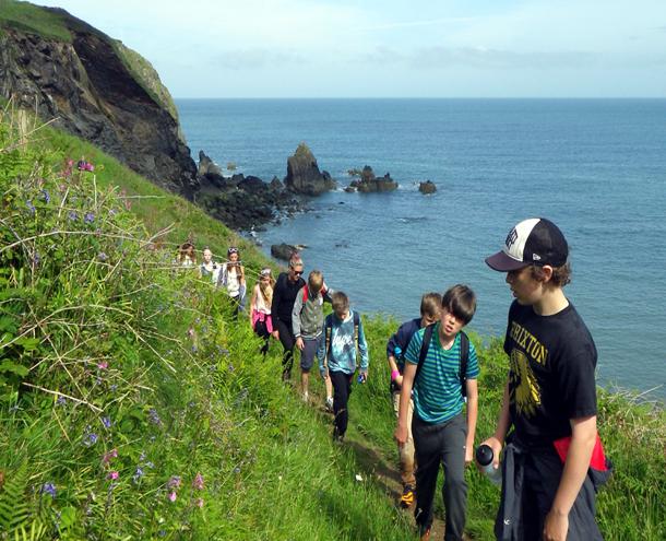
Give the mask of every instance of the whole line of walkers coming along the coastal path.
[[(210, 252), (210, 250), (207, 250)], [(233, 256), (236, 256), (233, 259)], [(245, 270), (238, 250), (212, 262), (204, 250), (201, 275), (227, 287), (236, 314), (245, 306)], [(563, 293), (570, 282), (569, 246), (546, 219), (516, 224), (504, 246), (487, 257), (504, 273), (514, 301), (509, 308), (503, 349), (509, 374), (495, 432), (481, 435), (477, 467), (501, 480), (495, 521), (498, 540), (600, 540), (596, 492), (611, 471), (597, 435), (594, 341)], [(309, 401), (309, 374), (319, 363), (334, 415), (333, 437), (343, 440), (347, 403), (358, 371), (368, 376), (362, 319), (347, 295), (328, 287), (320, 271), (302, 278), (304, 263), (292, 257), (287, 272), (273, 280), (261, 271), (250, 302), (250, 320), (264, 338), (283, 346), (282, 377), (290, 380), (294, 352), (300, 351), (300, 391)], [(324, 317), (323, 303), (333, 311)], [(477, 352), (463, 328), (476, 311), (476, 295), (456, 284), (443, 295), (426, 293), (420, 314), (386, 344), (391, 393), (397, 417), (403, 493), (400, 505), (414, 507), (420, 539), (430, 538), (440, 464), (445, 509), (444, 540), (462, 540), (467, 483), (465, 467), (475, 459), (480, 373)], [(483, 390), (481, 390), (483, 392)], [(483, 457), (483, 458), (481, 458)]]

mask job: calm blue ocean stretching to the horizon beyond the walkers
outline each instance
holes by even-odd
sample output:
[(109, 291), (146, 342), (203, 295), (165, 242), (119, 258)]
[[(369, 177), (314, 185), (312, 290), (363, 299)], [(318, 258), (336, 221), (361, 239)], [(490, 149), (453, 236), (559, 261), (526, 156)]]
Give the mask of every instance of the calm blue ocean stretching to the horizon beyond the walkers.
[[(177, 99), (192, 154), (270, 181), (302, 141), (340, 189), (258, 239), (302, 244), (365, 314), (418, 316), (428, 291), (466, 283), (469, 325), (503, 336), (511, 292), (484, 258), (525, 217), (567, 236), (567, 295), (611, 389), (666, 398), (666, 99)], [(370, 165), (391, 193), (346, 193)], [(418, 181), (432, 180), (432, 196)], [(384, 360), (376, 362), (383, 365)]]

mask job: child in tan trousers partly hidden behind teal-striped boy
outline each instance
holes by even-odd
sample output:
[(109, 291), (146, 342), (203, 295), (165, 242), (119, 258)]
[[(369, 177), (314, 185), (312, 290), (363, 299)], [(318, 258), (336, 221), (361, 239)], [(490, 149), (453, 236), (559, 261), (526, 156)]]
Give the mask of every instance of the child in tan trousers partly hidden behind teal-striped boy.
[[(389, 369), (391, 371), (391, 396), (396, 416), (400, 410), (400, 389), (403, 383), (405, 352), (409, 341), (417, 330), (439, 320), (441, 305), (442, 296), (439, 293), (426, 293), (420, 301), (420, 317), (405, 321), (389, 339), (386, 357), (389, 360)], [(400, 474), (403, 483), (400, 506), (404, 509), (414, 503), (414, 489), (416, 485), (416, 479), (414, 478), (414, 439), (412, 437), (413, 412), (414, 401), (409, 399), (409, 407), (407, 409), (407, 440), (404, 444), (397, 444)]]

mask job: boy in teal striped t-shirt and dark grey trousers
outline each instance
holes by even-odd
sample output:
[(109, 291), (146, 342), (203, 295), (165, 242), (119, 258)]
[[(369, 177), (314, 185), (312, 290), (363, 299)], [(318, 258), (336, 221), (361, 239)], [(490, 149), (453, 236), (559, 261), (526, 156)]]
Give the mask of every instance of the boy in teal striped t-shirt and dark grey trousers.
[[(444, 469), (444, 539), (463, 539), (467, 507), (465, 466), (472, 462), (478, 413), (478, 362), (462, 328), (476, 311), (476, 296), (454, 285), (442, 296), (440, 320), (417, 331), (405, 353), (395, 439), (407, 440), (407, 412), (414, 389), (412, 433), (416, 455), (416, 508), (420, 539), (430, 538), (439, 464)], [(466, 365), (466, 366), (465, 366)], [(467, 415), (463, 416), (464, 395)]]

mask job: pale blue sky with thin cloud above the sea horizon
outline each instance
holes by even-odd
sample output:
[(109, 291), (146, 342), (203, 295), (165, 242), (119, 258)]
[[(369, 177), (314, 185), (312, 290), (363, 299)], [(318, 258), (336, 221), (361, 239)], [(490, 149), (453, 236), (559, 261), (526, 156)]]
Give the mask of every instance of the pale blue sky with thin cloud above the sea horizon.
[(666, 97), (666, 0), (57, 0), (175, 97)]

